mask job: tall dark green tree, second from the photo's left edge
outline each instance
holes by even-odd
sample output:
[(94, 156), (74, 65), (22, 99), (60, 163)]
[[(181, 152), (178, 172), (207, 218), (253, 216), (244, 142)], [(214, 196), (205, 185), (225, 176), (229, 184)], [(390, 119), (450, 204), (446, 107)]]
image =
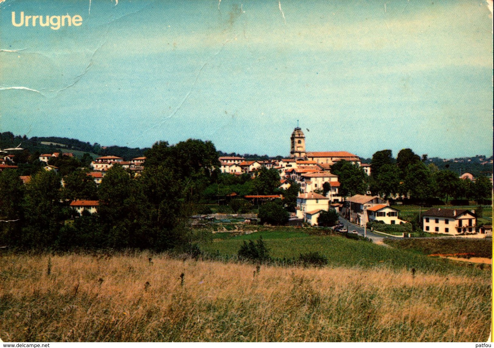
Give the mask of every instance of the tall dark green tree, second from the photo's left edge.
[(54, 171), (34, 175), (26, 184), (22, 207), (22, 246), (40, 250), (52, 246), (66, 218), (60, 205), (60, 176)]

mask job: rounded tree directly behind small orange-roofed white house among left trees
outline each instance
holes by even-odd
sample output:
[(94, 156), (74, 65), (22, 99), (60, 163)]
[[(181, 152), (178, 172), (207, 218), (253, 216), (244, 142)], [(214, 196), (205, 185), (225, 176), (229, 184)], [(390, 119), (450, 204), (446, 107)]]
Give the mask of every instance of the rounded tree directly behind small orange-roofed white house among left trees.
[(76, 170), (65, 176), (62, 189), (64, 199), (97, 199), (98, 192), (94, 179), (87, 175), (87, 170)]

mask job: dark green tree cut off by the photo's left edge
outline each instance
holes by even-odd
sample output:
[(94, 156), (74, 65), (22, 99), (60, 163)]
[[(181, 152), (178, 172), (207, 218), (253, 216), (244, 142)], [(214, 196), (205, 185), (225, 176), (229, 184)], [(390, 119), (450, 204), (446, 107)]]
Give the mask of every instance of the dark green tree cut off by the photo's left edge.
[(17, 244), (22, 226), (24, 184), (16, 170), (0, 172), (0, 246)]

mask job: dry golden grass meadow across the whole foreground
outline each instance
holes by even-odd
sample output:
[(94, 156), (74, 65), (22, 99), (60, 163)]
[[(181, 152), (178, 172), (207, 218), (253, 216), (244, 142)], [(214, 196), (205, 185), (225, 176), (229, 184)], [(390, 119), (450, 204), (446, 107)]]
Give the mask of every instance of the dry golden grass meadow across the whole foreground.
[[(486, 341), (491, 279), (147, 254), (0, 258), (3, 341)], [(181, 285), (180, 274), (184, 273)]]

